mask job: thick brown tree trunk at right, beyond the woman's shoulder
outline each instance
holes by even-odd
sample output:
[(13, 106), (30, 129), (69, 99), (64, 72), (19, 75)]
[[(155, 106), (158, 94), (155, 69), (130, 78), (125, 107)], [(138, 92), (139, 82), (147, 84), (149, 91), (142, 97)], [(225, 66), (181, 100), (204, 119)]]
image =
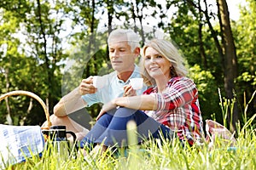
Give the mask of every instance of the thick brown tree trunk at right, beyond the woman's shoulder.
[[(217, 0), (219, 24), (222, 32), (223, 52), (224, 52), (224, 89), (227, 99), (234, 99), (235, 78), (237, 77), (237, 59), (234, 38), (230, 26), (230, 14), (225, 0)], [(237, 104), (230, 108), (228, 119), (230, 129), (236, 129), (238, 120)], [(231, 115), (233, 113), (233, 115)]]

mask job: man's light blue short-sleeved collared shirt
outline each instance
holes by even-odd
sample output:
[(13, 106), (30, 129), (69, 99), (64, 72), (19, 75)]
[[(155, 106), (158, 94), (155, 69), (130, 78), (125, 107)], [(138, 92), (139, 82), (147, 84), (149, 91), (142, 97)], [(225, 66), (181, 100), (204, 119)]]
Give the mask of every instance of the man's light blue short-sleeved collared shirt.
[[(103, 88), (98, 88), (96, 94), (85, 94), (82, 96), (82, 99), (87, 103), (87, 107), (96, 103), (106, 104), (112, 99), (123, 96), (124, 86), (130, 83), (131, 78), (141, 77), (141, 74), (139, 68), (135, 65), (135, 70), (126, 82), (119, 80), (116, 71), (113, 71), (103, 77), (106, 80)], [(147, 86), (144, 84), (142, 89), (137, 90), (137, 95), (143, 94), (146, 89)]]

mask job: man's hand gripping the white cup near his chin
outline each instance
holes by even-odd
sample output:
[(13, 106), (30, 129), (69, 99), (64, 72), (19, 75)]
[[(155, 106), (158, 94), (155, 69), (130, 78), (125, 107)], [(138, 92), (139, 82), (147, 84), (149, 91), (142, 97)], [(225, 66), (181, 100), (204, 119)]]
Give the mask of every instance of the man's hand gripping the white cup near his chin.
[(82, 82), (79, 85), (79, 94), (95, 94), (97, 88), (95, 88), (93, 85), (93, 77), (88, 77), (86, 79), (83, 79)]

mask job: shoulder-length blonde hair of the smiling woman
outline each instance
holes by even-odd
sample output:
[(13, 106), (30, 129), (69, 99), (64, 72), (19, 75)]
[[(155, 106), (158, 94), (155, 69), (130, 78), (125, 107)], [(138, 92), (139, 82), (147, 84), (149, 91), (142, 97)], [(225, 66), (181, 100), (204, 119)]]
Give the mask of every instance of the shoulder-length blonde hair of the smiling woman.
[(174, 42), (169, 42), (164, 39), (153, 39), (143, 47), (143, 57), (141, 59), (140, 65), (142, 69), (142, 77), (148, 86), (155, 85), (154, 78), (148, 75), (148, 71), (146, 71), (144, 65), (145, 51), (148, 47), (154, 48), (158, 53), (160, 53), (163, 57), (171, 62), (171, 77), (184, 77), (188, 74), (187, 68), (183, 63), (182, 54), (179, 52), (178, 48), (174, 46), (173, 43)]

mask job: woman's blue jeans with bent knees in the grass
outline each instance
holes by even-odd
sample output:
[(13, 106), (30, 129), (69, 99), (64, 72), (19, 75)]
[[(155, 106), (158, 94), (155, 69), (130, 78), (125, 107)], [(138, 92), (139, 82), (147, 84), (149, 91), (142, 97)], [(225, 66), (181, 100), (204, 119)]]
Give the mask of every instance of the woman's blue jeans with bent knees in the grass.
[(160, 122), (156, 122), (143, 111), (120, 107), (104, 114), (81, 141), (80, 147), (87, 144), (102, 143), (107, 146), (127, 146), (126, 124), (131, 120), (137, 124), (138, 144), (149, 137), (160, 139), (160, 134), (165, 139), (172, 139), (173, 137), (172, 130)]

